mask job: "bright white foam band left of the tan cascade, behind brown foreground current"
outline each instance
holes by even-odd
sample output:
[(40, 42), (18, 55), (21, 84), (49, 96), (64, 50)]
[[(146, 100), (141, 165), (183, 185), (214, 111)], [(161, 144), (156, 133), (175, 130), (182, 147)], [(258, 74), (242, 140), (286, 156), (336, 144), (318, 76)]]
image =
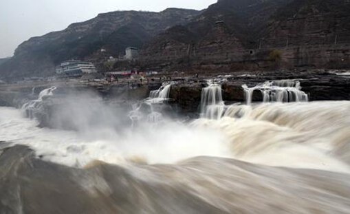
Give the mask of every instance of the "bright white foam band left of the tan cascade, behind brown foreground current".
[[(45, 160), (82, 167), (94, 160), (123, 164), (143, 160), (150, 164), (175, 163), (194, 156), (230, 157), (225, 138), (215, 129), (166, 122), (145, 125), (120, 134), (113, 129), (84, 132), (36, 127), (21, 111), (0, 107), (1, 140), (28, 145)], [(176, 130), (176, 131), (175, 131)]]

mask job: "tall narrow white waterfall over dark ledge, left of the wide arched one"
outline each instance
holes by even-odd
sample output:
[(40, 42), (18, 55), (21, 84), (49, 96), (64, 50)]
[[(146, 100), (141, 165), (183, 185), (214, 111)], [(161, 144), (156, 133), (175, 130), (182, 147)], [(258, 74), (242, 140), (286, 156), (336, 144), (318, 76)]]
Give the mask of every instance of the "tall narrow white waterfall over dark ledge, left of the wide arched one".
[(201, 92), (201, 117), (219, 120), (223, 115), (225, 103), (222, 99), (222, 89), (219, 84), (210, 84)]

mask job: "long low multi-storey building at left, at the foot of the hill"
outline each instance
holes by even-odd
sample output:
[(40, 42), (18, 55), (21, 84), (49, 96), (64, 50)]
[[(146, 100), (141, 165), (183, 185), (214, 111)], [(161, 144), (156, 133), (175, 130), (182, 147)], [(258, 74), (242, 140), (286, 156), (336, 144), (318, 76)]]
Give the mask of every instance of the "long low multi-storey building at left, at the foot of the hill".
[(93, 63), (77, 60), (64, 61), (56, 67), (56, 74), (65, 76), (81, 76), (94, 73), (97, 73), (97, 69)]

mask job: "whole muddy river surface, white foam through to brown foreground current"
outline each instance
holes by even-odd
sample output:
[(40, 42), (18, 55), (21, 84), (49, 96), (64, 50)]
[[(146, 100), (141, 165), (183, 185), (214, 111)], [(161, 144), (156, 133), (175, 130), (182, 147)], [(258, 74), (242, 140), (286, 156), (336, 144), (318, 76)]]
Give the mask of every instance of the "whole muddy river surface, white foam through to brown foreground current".
[[(18, 201), (11, 205), (2, 200), (3, 210), (350, 213), (347, 101), (234, 105), (215, 120), (164, 118), (157, 124), (125, 125), (120, 127), (123, 131), (110, 126), (62, 131), (36, 125), (19, 109), (0, 108), (1, 140), (26, 145), (36, 157), (23, 158), (30, 162), (24, 166), (14, 159), (13, 166), (20, 166), (16, 173), (10, 173), (9, 165), (0, 167), (3, 178), (14, 178), (13, 189), (1, 189)], [(6, 150), (0, 159), (29, 151), (16, 152)], [(67, 180), (47, 182), (51, 173)], [(38, 190), (47, 197), (34, 193)], [(61, 198), (65, 191), (67, 198), (54, 200), (52, 195)], [(50, 206), (35, 204), (39, 200)]]

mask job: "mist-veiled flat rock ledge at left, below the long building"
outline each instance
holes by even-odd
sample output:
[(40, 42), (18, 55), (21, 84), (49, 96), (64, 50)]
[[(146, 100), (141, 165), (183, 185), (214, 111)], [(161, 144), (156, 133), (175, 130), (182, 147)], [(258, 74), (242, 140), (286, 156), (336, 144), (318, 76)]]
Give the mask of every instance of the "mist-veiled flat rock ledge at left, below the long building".
[[(56, 86), (54, 94), (58, 101), (66, 96), (93, 95), (99, 96), (110, 102), (128, 101), (135, 102), (149, 96), (151, 90), (158, 89), (162, 83), (66, 83), (66, 82), (43, 82), (0, 85), (0, 106), (22, 107), (30, 100), (36, 100), (43, 89)], [(58, 102), (59, 103), (59, 102)]]

